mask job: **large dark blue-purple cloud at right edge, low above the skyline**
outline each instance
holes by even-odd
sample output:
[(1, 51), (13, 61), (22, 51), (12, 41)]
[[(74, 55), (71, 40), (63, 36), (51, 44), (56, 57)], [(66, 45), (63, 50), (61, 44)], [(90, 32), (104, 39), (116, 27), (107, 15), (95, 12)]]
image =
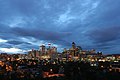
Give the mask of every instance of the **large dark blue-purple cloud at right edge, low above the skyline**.
[(107, 50), (113, 50), (113, 48), (115, 49), (116, 47), (116, 51), (113, 50), (113, 53), (119, 53), (118, 45), (120, 45), (120, 26), (109, 26), (95, 29), (92, 30), (88, 36), (97, 50), (110, 53)]

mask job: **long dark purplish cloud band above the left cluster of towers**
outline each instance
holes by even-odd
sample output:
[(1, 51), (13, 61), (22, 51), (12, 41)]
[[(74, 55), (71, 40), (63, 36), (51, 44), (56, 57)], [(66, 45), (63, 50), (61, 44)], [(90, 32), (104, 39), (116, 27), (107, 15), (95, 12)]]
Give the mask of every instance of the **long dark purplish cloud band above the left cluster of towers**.
[(61, 40), (61, 38), (69, 36), (70, 33), (64, 32), (51, 32), (45, 30), (33, 30), (33, 29), (23, 29), (23, 28), (13, 28), (13, 33), (19, 36), (30, 36), (37, 39), (43, 40)]

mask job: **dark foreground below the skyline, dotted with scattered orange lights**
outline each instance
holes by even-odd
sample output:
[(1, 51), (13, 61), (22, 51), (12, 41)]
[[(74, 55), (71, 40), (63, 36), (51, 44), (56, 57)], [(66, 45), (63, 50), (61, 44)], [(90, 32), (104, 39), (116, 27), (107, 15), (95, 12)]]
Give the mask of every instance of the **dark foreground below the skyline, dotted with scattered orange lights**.
[(6, 69), (6, 64), (0, 66), (0, 80), (120, 80), (119, 72), (92, 67), (88, 62), (22, 60), (7, 63), (12, 71)]

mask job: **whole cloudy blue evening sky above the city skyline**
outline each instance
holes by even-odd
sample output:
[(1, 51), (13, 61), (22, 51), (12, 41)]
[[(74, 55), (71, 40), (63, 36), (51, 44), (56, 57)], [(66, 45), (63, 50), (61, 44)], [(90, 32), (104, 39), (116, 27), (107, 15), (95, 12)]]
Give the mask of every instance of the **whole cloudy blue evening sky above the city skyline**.
[(0, 52), (51, 43), (120, 53), (120, 0), (0, 0)]

